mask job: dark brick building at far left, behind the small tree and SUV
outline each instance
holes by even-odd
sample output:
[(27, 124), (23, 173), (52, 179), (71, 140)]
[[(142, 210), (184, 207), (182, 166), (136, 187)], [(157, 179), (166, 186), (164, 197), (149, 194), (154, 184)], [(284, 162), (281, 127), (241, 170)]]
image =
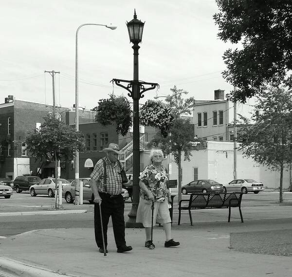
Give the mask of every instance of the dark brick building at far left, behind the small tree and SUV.
[[(61, 120), (74, 124), (75, 113), (68, 110), (70, 108), (56, 107)], [(35, 172), (41, 165), (26, 149), (26, 137), (44, 122), (43, 117), (50, 112), (53, 112), (51, 105), (18, 100), (13, 95), (0, 104), (0, 178), (14, 179), (18, 175)], [(82, 109), (79, 122), (92, 122), (94, 116), (95, 112)], [(47, 163), (46, 175), (51, 175), (53, 167), (52, 163)]]

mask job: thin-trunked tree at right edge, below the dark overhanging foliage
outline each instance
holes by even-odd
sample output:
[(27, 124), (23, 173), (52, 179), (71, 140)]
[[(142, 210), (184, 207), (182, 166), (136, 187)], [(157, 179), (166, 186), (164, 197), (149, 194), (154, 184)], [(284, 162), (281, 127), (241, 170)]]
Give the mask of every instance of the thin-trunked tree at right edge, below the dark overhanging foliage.
[(257, 99), (252, 117), (256, 123), (240, 130), (240, 149), (257, 163), (271, 170), (280, 170), (281, 203), (283, 170), (292, 162), (292, 92), (283, 88), (270, 89), (262, 92)]

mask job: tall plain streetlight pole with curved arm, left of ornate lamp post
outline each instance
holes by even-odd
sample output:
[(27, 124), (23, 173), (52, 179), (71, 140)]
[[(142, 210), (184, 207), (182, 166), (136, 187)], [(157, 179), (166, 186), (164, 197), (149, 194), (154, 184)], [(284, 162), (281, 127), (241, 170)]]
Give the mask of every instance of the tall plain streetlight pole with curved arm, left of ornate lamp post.
[[(75, 129), (79, 131), (79, 100), (78, 100), (78, 32), (82, 26), (85, 25), (97, 25), (97, 26), (105, 26), (111, 30), (115, 30), (117, 26), (113, 25), (104, 25), (104, 24), (95, 24), (95, 23), (85, 23), (81, 24), (76, 30), (76, 51), (75, 51)], [(79, 205), (79, 151), (75, 152), (75, 205)], [(82, 188), (81, 188), (82, 189)], [(82, 200), (81, 200), (82, 203)]]

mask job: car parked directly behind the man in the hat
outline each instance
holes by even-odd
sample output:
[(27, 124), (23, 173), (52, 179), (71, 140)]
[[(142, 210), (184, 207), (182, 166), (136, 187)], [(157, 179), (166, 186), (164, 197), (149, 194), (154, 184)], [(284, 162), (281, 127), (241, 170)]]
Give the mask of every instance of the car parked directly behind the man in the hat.
[[(88, 200), (89, 203), (93, 203), (94, 195), (90, 186), (91, 178), (79, 178), (83, 182), (83, 200)], [(73, 203), (75, 199), (75, 180), (70, 185), (63, 186), (62, 197), (65, 198), (67, 203)], [(128, 190), (122, 189), (122, 196), (124, 201), (129, 199)]]

